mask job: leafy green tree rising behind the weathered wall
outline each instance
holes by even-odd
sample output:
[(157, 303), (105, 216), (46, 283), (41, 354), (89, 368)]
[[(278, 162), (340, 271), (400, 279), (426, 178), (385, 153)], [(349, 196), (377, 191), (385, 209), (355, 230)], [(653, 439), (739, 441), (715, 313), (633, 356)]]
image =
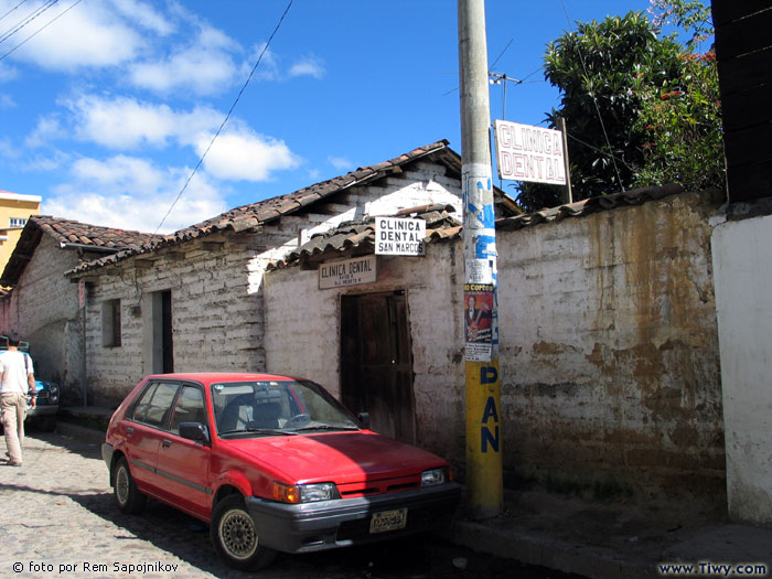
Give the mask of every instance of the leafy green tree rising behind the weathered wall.
[[(566, 119), (575, 200), (674, 181), (703, 186), (689, 179), (722, 162), (715, 60), (691, 52), (712, 32), (709, 13), (687, 0), (652, 0), (650, 12), (651, 20), (630, 12), (577, 23), (547, 46), (545, 77), (560, 90), (547, 120)], [(689, 41), (661, 37), (665, 24), (685, 29)], [(675, 160), (686, 167), (665, 171)], [(522, 183), (518, 191), (528, 211), (559, 204), (558, 187)]]

